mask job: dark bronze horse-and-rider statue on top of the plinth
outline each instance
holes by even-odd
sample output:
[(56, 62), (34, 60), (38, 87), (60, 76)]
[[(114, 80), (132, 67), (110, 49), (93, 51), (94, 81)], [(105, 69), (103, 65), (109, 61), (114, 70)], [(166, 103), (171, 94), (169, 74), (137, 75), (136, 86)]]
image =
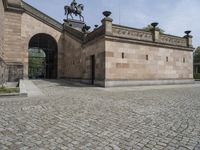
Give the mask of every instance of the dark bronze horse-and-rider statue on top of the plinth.
[(67, 16), (67, 20), (69, 19), (69, 15), (72, 19), (74, 19), (73, 15), (79, 16), (80, 21), (84, 22), (84, 17), (82, 16), (82, 11), (84, 10), (83, 4), (77, 4), (76, 0), (73, 0), (73, 2), (70, 4), (70, 6), (65, 6), (65, 15)]

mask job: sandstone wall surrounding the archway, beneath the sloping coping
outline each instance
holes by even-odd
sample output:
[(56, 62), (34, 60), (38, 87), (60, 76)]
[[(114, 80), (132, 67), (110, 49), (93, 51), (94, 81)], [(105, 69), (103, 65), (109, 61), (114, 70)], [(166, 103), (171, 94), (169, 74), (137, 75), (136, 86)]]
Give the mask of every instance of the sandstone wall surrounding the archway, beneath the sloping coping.
[(21, 53), (22, 60), (24, 64), (24, 77), (28, 77), (28, 45), (30, 39), (39, 33), (45, 33), (52, 36), (58, 45), (58, 77), (62, 77), (61, 68), (62, 66), (62, 56), (63, 56), (63, 37), (62, 32), (54, 29), (53, 27), (43, 23), (42, 21), (34, 18), (33, 16), (23, 13), (21, 19)]

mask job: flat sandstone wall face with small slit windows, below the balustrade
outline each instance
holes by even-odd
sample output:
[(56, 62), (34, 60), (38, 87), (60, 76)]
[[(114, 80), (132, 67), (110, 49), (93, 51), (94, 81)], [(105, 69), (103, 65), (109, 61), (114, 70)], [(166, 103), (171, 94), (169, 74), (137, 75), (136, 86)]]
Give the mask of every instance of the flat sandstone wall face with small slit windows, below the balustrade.
[(193, 79), (193, 52), (106, 41), (106, 80)]

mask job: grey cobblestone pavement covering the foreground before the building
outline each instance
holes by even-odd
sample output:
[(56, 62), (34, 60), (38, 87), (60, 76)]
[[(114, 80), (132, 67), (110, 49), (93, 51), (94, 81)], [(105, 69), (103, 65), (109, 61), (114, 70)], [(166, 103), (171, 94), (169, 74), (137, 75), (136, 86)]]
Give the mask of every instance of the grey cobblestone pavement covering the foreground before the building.
[(45, 97), (0, 98), (0, 150), (200, 149), (200, 84), (34, 83)]

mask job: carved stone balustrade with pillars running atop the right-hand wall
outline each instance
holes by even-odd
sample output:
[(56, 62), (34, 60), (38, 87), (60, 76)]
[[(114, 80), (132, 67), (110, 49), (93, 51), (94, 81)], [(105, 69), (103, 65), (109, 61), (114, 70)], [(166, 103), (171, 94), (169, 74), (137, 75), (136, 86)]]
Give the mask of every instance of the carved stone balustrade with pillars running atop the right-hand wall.
[(160, 33), (158, 30), (144, 31), (142, 29), (135, 29), (125, 27), (121, 25), (112, 24), (111, 18), (104, 18), (102, 20), (102, 26), (97, 30), (88, 34), (87, 40), (93, 40), (94, 37), (105, 34), (107, 36), (113, 36), (117, 38), (125, 38), (128, 40), (136, 40), (141, 42), (150, 42), (159, 45), (166, 46), (178, 46), (183, 48), (193, 48), (192, 36), (178, 37), (174, 35), (168, 35)]

